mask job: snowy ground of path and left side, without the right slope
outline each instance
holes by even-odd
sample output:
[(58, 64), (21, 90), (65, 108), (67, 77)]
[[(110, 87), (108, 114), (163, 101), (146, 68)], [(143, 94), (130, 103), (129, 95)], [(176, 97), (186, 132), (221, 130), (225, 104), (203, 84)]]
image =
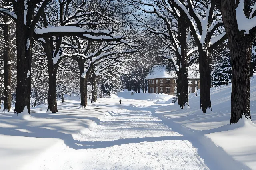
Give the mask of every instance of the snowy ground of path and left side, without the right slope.
[(183, 115), (164, 116), (174, 109), (171, 96), (135, 95), (120, 93), (122, 105), (104, 98), (78, 109), (79, 100), (67, 99), (58, 113), (45, 113), (47, 105), (32, 108), (32, 117), (0, 113), (0, 169), (249, 169), (204, 136), (207, 131), (170, 119)]

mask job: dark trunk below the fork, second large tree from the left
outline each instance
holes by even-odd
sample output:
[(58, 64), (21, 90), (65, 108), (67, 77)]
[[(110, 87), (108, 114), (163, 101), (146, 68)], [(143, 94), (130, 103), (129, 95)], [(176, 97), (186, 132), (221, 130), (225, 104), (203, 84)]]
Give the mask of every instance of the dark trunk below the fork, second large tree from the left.
[[(51, 58), (52, 60), (52, 58)], [(49, 88), (48, 88), (48, 109), (52, 113), (58, 112), (57, 109), (57, 69), (53, 62), (48, 62)]]

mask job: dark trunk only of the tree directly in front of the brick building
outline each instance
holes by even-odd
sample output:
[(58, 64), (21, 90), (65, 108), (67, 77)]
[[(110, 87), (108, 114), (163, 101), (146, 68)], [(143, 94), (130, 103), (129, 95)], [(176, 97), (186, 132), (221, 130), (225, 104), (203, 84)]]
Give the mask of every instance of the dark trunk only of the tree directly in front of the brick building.
[(181, 15), (178, 22), (180, 30), (180, 56), (178, 58), (178, 65), (181, 65), (177, 75), (177, 92), (178, 92), (178, 104), (180, 108), (184, 108), (188, 105), (188, 57), (187, 57), (187, 26), (184, 16)]

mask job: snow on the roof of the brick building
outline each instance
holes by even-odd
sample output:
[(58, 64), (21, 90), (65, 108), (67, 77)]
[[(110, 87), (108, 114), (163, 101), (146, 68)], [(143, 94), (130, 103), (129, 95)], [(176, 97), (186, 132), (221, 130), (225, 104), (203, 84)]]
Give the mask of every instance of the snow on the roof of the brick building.
[[(196, 69), (194, 69), (194, 67), (196, 67)], [(197, 70), (197, 73), (195, 70)], [(199, 66), (193, 65), (188, 68), (188, 78), (194, 79), (196, 77), (197, 79), (199, 79)], [(156, 79), (156, 78), (163, 78), (163, 79), (177, 78), (177, 75), (175, 71), (167, 71), (165, 65), (155, 65), (151, 68), (146, 79)]]

